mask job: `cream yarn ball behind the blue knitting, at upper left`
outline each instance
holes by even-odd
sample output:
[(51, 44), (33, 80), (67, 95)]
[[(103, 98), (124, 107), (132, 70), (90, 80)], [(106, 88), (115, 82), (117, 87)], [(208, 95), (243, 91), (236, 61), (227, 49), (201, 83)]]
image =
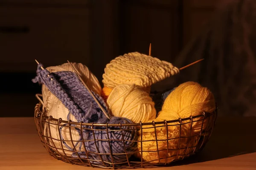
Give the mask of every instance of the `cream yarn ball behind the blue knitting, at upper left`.
[[(89, 69), (81, 64), (81, 63), (72, 63), (72, 65), (76, 68), (78, 71), (79, 75), (83, 79), (83, 81), (86, 83), (88, 88), (92, 90), (96, 94), (101, 94), (101, 86), (99, 84), (98, 79), (89, 71)], [(73, 71), (73, 68), (70, 66), (69, 63), (64, 63), (62, 65), (58, 66), (51, 66), (46, 68), (49, 72), (55, 73), (59, 71)], [(44, 107), (46, 108), (47, 111), (49, 111), (55, 103), (56, 97), (49, 91), (49, 89), (45, 86), (42, 85), (42, 95), (43, 95), (43, 100), (44, 100)]]

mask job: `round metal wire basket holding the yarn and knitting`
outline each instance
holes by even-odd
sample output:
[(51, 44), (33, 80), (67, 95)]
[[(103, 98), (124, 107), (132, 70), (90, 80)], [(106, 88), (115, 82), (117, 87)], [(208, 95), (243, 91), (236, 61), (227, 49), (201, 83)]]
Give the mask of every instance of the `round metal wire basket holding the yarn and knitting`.
[[(47, 152), (55, 157), (56, 159), (60, 159), (62, 161), (71, 163), (71, 164), (78, 164), (78, 165), (83, 165), (87, 167), (101, 167), (101, 168), (106, 168), (106, 169), (120, 169), (120, 168), (141, 168), (141, 167), (155, 167), (158, 165), (166, 165), (169, 164), (170, 159), (171, 161), (177, 161), (177, 160), (182, 160), (188, 156), (193, 155), (194, 153), (198, 152), (201, 150), (206, 142), (208, 141), (209, 137), (212, 134), (212, 129), (215, 125), (215, 120), (217, 117), (217, 109), (212, 112), (212, 113), (202, 113), (201, 115), (198, 116), (190, 116), (185, 119), (177, 119), (177, 120), (165, 120), (163, 122), (149, 122), (149, 123), (135, 123), (135, 124), (93, 124), (93, 123), (79, 123), (79, 122), (72, 122), (72, 121), (64, 121), (61, 118), (55, 119), (52, 116), (47, 116), (45, 112), (41, 111), (42, 105), (37, 104), (35, 106), (35, 124), (37, 126), (38, 130), (38, 135), (41, 138), (41, 142), (43, 143), (44, 147), (46, 148)], [(206, 122), (207, 121), (207, 125)], [(195, 123), (200, 123), (201, 129), (198, 130), (197, 133), (192, 132), (192, 126)], [(121, 131), (123, 130), (122, 127), (135, 127), (132, 130), (137, 130), (140, 132), (140, 139), (136, 141), (131, 141), (131, 142), (137, 142), (137, 145), (141, 146), (141, 150), (137, 150), (133, 153), (127, 153), (125, 150), (125, 153), (119, 153), (126, 155), (127, 159), (123, 162), (115, 163), (113, 162), (113, 156), (115, 156), (115, 153), (112, 152), (111, 149), (111, 144), (110, 144), (110, 139), (105, 139), (105, 141), (108, 141), (109, 147), (110, 147), (110, 152), (109, 153), (100, 153), (99, 148), (95, 144), (96, 147), (96, 152), (90, 152), (86, 150), (86, 147), (84, 146), (84, 142), (88, 142), (88, 140), (84, 140), (83, 138), (79, 141), (75, 141), (72, 139), (72, 131), (73, 129), (79, 129), (80, 132), (82, 133), (82, 130), (86, 127), (87, 130), (91, 130), (93, 132), (93, 140), (94, 142), (102, 140), (102, 139), (97, 139), (97, 137), (94, 135), (94, 131), (97, 130), (95, 127), (104, 127), (107, 131), (111, 130), (111, 127), (118, 127), (117, 129), (113, 131)], [(181, 131), (183, 128), (189, 127), (189, 133), (187, 133), (185, 136), (181, 134)], [(58, 129), (58, 139), (52, 137), (51, 133), (47, 133), (45, 128), (56, 128)], [(61, 138), (61, 127), (68, 128), (69, 132), (69, 140), (65, 140)], [(179, 135), (175, 136), (172, 139), (168, 138), (168, 133), (166, 133), (166, 139), (157, 139), (157, 133), (156, 130), (158, 127), (166, 127), (167, 129), (170, 127), (177, 127), (179, 129)], [(156, 147), (157, 150), (145, 150), (143, 149), (143, 142), (148, 142), (147, 140), (143, 140), (142, 135), (143, 135), (143, 130), (145, 131), (146, 129), (152, 129), (154, 130), (155, 134), (155, 139), (153, 140), (156, 142)], [(131, 129), (130, 129), (131, 130)], [(49, 130), (50, 131), (50, 130)], [(167, 131), (166, 131), (167, 132)], [(121, 142), (126, 142), (125, 138), (122, 134), (122, 141)], [(81, 134), (81, 136), (83, 136)], [(184, 142), (184, 139), (186, 140), (186, 143), (181, 144)], [(161, 152), (166, 152), (168, 153), (168, 143), (170, 140), (176, 140), (177, 141), (177, 147), (172, 148), (172, 155), (166, 154), (165, 158), (160, 158), (160, 153)], [(167, 150), (160, 150), (158, 149), (158, 144), (161, 141), (165, 141), (167, 143)], [(59, 142), (60, 146), (56, 146), (55, 143)], [(64, 148), (64, 143), (69, 142), (73, 148), (72, 151), (67, 150), (67, 148)], [(75, 145), (77, 142), (81, 142), (80, 144), (83, 145), (83, 152), (86, 154), (85, 157), (81, 157), (78, 153), (81, 152), (81, 150), (77, 150)], [(125, 145), (124, 145), (125, 146)], [(125, 148), (124, 148), (125, 149)], [(70, 156), (70, 152), (75, 155)], [(155, 152), (158, 155), (157, 159), (152, 160), (143, 160), (143, 153), (145, 154), (146, 152)], [(99, 160), (92, 160), (90, 159), (91, 154), (96, 154), (99, 155)], [(101, 158), (104, 155), (111, 156), (112, 160), (111, 161), (103, 161)], [(131, 157), (128, 157), (132, 155)], [(139, 158), (138, 158), (138, 155)], [(89, 156), (89, 157), (88, 157)]]

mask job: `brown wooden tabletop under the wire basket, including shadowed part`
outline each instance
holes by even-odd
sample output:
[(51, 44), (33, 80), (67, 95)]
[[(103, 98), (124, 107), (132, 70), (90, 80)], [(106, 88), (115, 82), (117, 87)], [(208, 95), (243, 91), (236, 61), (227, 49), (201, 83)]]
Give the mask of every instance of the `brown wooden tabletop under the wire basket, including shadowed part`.
[[(68, 164), (49, 156), (34, 119), (0, 118), (0, 170), (98, 169)], [(218, 117), (200, 153), (155, 170), (256, 170), (256, 117)]]

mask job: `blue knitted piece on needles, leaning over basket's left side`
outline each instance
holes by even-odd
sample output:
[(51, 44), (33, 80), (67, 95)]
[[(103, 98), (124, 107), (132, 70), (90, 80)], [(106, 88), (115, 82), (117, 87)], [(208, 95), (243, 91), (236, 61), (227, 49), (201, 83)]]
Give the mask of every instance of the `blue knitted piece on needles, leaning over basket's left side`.
[[(37, 76), (32, 81), (46, 85), (78, 122), (106, 123), (108, 121), (108, 118), (75, 73), (71, 71), (50, 73), (47, 69), (42, 70), (41, 66), (42, 64), (38, 65)], [(108, 112), (104, 100), (98, 94), (93, 94)]]

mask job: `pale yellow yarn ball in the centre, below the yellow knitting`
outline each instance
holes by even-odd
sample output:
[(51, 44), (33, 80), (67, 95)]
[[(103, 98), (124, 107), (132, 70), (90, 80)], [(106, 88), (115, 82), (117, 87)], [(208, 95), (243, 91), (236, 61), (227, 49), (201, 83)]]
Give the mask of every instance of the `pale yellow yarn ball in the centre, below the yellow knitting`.
[(107, 104), (113, 116), (125, 117), (135, 123), (148, 122), (156, 117), (154, 102), (137, 85), (118, 85), (111, 91)]

